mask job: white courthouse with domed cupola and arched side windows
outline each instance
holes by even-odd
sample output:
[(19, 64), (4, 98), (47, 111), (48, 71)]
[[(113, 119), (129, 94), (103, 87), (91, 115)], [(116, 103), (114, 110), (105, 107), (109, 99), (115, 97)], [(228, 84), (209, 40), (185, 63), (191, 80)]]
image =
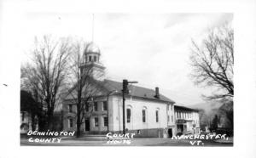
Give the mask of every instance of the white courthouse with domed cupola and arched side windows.
[[(105, 67), (100, 63), (100, 49), (94, 43), (84, 52), (85, 64), (93, 65), (96, 73), (102, 73)], [(84, 65), (81, 65), (83, 69)], [(122, 82), (98, 81), (101, 91), (93, 99), (93, 106), (85, 108), (83, 133), (105, 134), (123, 131)], [(127, 133), (137, 133), (137, 137), (172, 137), (177, 134), (175, 102), (160, 94), (160, 88), (149, 89), (129, 85), (125, 94), (125, 129)], [(65, 111), (64, 130), (76, 130), (76, 103), (71, 95), (63, 102)], [(91, 112), (92, 111), (92, 112)]]

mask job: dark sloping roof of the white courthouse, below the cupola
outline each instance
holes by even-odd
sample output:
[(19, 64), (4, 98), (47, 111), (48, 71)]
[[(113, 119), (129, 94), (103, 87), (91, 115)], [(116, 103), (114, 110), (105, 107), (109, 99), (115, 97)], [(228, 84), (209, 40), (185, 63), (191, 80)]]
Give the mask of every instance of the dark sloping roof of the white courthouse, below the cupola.
[[(109, 92), (118, 91), (119, 93), (122, 92), (123, 89), (123, 82), (114, 82), (111, 80), (104, 80), (103, 86), (108, 89)], [(172, 99), (168, 99), (166, 96), (160, 94), (160, 98), (155, 98), (155, 91), (153, 89), (148, 89), (146, 87), (138, 87), (134, 85), (128, 86), (130, 93), (127, 95), (138, 97), (142, 99), (153, 99), (158, 101), (170, 102), (175, 103)]]

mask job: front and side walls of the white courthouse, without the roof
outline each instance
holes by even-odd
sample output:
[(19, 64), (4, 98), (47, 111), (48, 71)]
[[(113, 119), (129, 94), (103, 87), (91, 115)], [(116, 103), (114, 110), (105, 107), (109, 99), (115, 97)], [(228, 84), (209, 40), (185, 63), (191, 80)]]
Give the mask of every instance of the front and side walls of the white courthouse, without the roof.
[[(107, 133), (109, 132), (122, 133), (123, 131), (123, 99), (121, 96), (110, 96), (108, 99), (108, 112), (103, 110), (103, 101), (107, 98), (94, 100), (98, 103), (98, 110), (90, 115), (90, 133)], [(76, 105), (73, 104), (72, 112), (68, 106), (72, 103), (63, 104), (65, 111), (64, 130), (76, 130)], [(90, 106), (89, 111), (91, 111)], [(127, 122), (127, 109), (131, 109), (131, 121)], [(143, 109), (146, 112), (146, 121), (143, 122)], [(158, 122), (156, 122), (156, 111), (158, 111)], [(108, 114), (109, 113), (109, 114)], [(108, 116), (108, 125), (104, 126), (103, 117)], [(168, 121), (169, 116), (169, 121)], [(98, 118), (98, 127), (95, 125), (95, 118)], [(73, 118), (73, 127), (70, 127), (70, 118)], [(147, 99), (125, 99), (125, 128), (128, 128), (129, 133), (139, 133), (139, 136), (147, 137), (167, 137), (167, 129), (175, 127), (174, 107), (173, 104), (166, 104), (158, 101), (151, 101)], [(81, 131), (85, 132), (85, 123), (81, 126)], [(174, 129), (173, 129), (174, 131)]]

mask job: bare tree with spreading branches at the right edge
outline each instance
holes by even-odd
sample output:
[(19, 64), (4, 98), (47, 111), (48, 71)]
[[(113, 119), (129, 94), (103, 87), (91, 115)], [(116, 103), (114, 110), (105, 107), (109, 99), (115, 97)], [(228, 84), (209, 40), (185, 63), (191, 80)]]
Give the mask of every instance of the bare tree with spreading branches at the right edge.
[(211, 31), (198, 45), (192, 41), (190, 56), (196, 85), (217, 87), (218, 93), (207, 99), (233, 98), (234, 31), (229, 26)]

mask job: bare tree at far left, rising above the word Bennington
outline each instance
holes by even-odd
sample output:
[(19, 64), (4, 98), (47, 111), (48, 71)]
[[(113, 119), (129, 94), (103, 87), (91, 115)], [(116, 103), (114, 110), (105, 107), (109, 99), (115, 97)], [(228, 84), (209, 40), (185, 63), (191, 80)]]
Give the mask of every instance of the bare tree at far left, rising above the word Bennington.
[(66, 38), (57, 41), (49, 36), (44, 36), (41, 40), (36, 38), (32, 48), (32, 61), (21, 68), (21, 79), (28, 85), (26, 88), (34, 93), (41, 102), (41, 109), (45, 110), (42, 114), (46, 116), (48, 129), (52, 129), (53, 113), (67, 76), (70, 51)]

